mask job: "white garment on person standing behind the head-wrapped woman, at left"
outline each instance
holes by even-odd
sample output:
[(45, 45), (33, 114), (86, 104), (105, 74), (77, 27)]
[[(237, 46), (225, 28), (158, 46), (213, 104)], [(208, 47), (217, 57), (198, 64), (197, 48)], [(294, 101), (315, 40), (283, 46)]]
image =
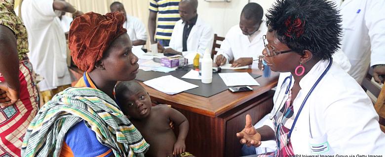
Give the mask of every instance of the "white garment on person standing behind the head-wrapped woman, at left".
[(35, 72), (44, 78), (39, 82), (40, 91), (71, 84), (66, 37), (52, 4), (53, 0), (24, 0), (21, 7), (31, 63)]

